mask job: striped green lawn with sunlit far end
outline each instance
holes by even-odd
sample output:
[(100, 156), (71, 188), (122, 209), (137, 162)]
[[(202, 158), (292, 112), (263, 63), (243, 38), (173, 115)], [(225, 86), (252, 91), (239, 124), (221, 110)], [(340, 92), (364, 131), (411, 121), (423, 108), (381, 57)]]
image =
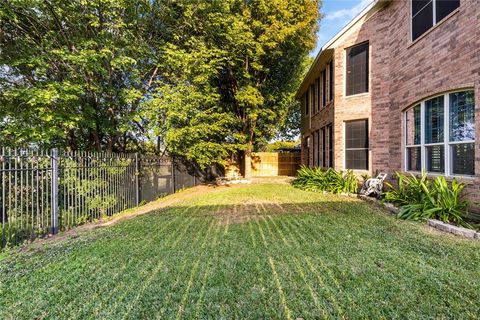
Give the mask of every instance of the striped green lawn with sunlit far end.
[(189, 193), (4, 253), (0, 319), (480, 315), (480, 242), (285, 184)]

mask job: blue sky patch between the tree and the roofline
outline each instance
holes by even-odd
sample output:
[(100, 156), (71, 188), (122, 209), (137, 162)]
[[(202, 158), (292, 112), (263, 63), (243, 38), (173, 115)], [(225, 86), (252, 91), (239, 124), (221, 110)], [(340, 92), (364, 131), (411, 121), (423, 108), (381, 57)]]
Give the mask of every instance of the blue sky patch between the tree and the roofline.
[(323, 19), (317, 34), (317, 47), (312, 52), (316, 56), (320, 48), (335, 36), (347, 23), (360, 13), (373, 0), (323, 0)]

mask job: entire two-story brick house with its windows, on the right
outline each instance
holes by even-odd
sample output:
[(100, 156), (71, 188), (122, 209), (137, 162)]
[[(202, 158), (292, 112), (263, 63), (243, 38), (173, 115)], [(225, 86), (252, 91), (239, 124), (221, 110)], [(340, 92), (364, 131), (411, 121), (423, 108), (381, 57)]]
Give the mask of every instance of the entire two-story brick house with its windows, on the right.
[(321, 49), (297, 98), (302, 163), (458, 177), (480, 202), (478, 0), (373, 1)]

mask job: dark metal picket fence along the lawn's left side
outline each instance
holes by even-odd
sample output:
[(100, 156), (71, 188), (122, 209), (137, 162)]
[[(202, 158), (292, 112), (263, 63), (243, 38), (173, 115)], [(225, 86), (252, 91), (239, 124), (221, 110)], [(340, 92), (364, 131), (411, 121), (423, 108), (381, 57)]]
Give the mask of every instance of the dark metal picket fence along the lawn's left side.
[(167, 157), (0, 151), (1, 246), (111, 216), (207, 177)]

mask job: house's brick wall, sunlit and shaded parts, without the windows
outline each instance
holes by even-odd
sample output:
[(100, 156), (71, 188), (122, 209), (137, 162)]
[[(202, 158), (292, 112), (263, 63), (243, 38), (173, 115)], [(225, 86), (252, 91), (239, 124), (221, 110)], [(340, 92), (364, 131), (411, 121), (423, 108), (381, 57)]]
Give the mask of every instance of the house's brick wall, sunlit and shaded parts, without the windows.
[[(334, 44), (334, 105), (311, 115), (302, 137), (334, 124), (335, 168), (344, 169), (344, 122), (368, 119), (370, 170), (392, 177), (404, 168), (403, 111), (429, 96), (473, 88), (476, 97), (476, 178), (470, 198), (480, 201), (480, 4), (461, 0), (460, 8), (411, 41), (410, 2), (394, 0)], [(369, 92), (345, 96), (345, 49), (369, 42)], [(312, 151), (310, 152), (310, 155)], [(306, 163), (306, 155), (302, 158)], [(358, 172), (362, 173), (362, 172)]]

